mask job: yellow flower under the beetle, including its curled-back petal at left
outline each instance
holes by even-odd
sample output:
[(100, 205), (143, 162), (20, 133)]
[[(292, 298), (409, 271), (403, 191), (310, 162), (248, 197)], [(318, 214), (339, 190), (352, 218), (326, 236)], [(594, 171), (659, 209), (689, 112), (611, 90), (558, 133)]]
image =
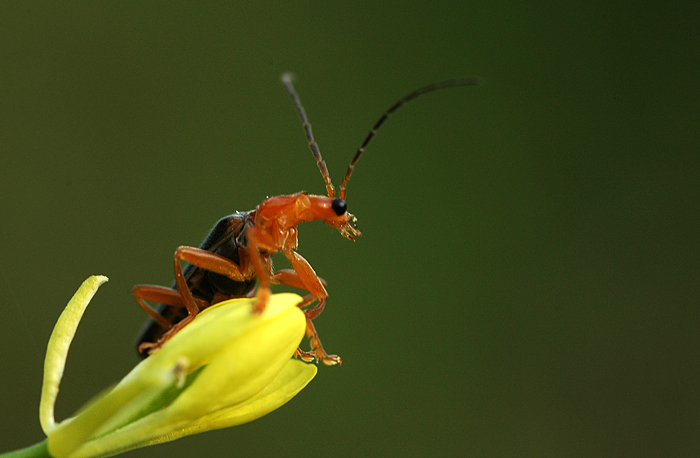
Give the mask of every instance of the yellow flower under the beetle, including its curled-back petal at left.
[(251, 313), (253, 300), (235, 299), (200, 313), (114, 388), (55, 424), (68, 347), (105, 281), (83, 283), (49, 340), (40, 421), (55, 458), (110, 456), (246, 423), (282, 406), (316, 374), (314, 365), (292, 359), (305, 331), (299, 296), (273, 295), (261, 315)]

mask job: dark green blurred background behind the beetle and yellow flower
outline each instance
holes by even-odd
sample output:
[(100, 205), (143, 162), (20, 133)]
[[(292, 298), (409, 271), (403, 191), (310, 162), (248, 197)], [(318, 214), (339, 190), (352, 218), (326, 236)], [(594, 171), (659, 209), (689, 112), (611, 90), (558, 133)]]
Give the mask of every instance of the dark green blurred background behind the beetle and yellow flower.
[(0, 6), (0, 450), (43, 437), (43, 351), (87, 276), (110, 282), (59, 418), (137, 361), (131, 287), (169, 285), (178, 245), (323, 193), (293, 71), (336, 182), (400, 96), (484, 84), (383, 127), (356, 243), (300, 227), (343, 366), (128, 456), (700, 455), (697, 4), (222, 3)]

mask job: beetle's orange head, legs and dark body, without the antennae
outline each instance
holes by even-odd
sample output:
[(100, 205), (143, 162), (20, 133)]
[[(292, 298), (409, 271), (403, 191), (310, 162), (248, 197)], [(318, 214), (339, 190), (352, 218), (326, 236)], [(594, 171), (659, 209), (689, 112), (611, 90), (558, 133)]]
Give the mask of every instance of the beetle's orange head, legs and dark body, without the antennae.
[[(202, 309), (217, 302), (239, 297), (249, 292), (255, 279), (260, 285), (257, 291), (255, 312), (260, 313), (270, 296), (270, 283), (284, 283), (310, 293), (301, 306), (313, 300), (319, 303), (306, 309), (307, 334), (311, 337), (312, 351), (297, 351), (305, 360), (318, 359), (326, 364), (341, 362), (336, 355), (328, 355), (318, 340), (312, 319), (323, 310), (328, 293), (323, 281), (316, 275), (311, 265), (296, 251), (298, 244), (297, 226), (301, 222), (322, 220), (336, 227), (341, 233), (353, 239), (360, 235), (350, 221), (354, 217), (346, 211), (345, 201), (326, 196), (313, 196), (299, 192), (289, 196), (276, 196), (263, 201), (255, 210), (237, 213), (223, 218), (219, 223), (229, 227), (220, 230), (220, 236), (211, 243), (209, 239), (200, 246), (180, 247), (175, 252), (175, 285), (164, 288), (153, 285), (138, 285), (134, 296), (139, 304), (153, 318), (139, 340), (139, 352), (150, 353), (168, 340), (169, 337), (187, 325)], [(228, 244), (228, 245), (225, 245)], [(235, 253), (217, 254), (220, 247), (234, 244)], [(292, 263), (293, 270), (272, 270), (272, 254), (282, 251)], [(192, 267), (183, 271), (180, 262), (187, 261)], [(205, 274), (203, 271), (206, 271)], [(213, 276), (218, 275), (219, 277)], [(221, 278), (224, 276), (225, 278)], [(225, 281), (226, 279), (230, 281)], [(176, 288), (176, 289), (175, 289)], [(211, 290), (210, 294), (193, 294)], [(156, 311), (143, 300), (153, 300), (171, 310), (161, 307)], [(181, 313), (185, 308), (187, 314)], [(178, 310), (179, 308), (179, 310)]]

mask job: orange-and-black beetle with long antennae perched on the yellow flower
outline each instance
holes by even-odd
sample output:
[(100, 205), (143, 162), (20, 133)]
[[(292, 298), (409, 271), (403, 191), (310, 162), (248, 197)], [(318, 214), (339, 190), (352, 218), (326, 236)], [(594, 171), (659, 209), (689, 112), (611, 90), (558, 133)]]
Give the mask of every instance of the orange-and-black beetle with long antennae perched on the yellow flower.
[[(170, 288), (157, 285), (134, 286), (134, 298), (150, 316), (137, 342), (141, 356), (147, 357), (157, 350), (191, 322), (199, 311), (218, 302), (255, 295), (253, 313), (262, 313), (271, 294), (270, 284), (283, 283), (309, 292), (299, 307), (304, 307), (311, 351), (298, 349), (295, 355), (307, 362), (316, 360), (326, 365), (341, 364), (339, 356), (326, 353), (314, 328), (312, 320), (323, 311), (328, 293), (325, 282), (316, 275), (308, 261), (296, 252), (297, 226), (301, 222), (321, 220), (338, 229), (343, 237), (354, 241), (361, 233), (353, 224), (355, 216), (347, 211), (347, 183), (377, 129), (393, 112), (422, 94), (437, 89), (476, 85), (479, 80), (462, 78), (433, 83), (411, 92), (392, 105), (374, 124), (357, 149), (337, 195), (314, 140), (311, 124), (294, 89), (292, 76), (283, 74), (282, 83), (303, 123), (309, 148), (321, 171), (328, 195), (311, 195), (302, 191), (270, 197), (254, 210), (221, 218), (198, 248), (179, 247), (174, 256), (175, 282)], [(280, 251), (289, 259), (292, 269), (274, 272), (272, 255)], [(181, 265), (183, 261), (188, 263), (184, 269)], [(152, 308), (146, 301), (158, 305)], [(315, 301), (318, 301), (316, 305), (308, 307)]]

